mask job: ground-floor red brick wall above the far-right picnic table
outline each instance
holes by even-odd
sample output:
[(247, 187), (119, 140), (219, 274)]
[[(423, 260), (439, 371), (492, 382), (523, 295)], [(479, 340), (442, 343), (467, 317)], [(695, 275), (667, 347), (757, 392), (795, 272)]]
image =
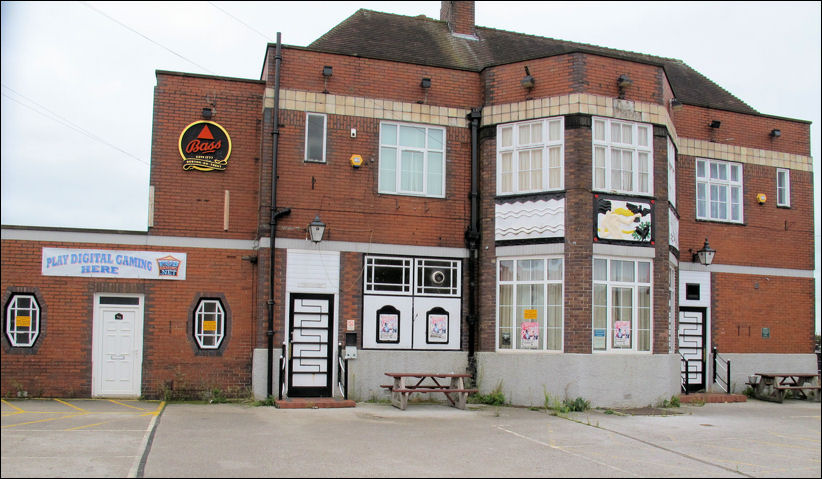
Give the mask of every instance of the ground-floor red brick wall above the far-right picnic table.
[(711, 276), (711, 333), (720, 353), (813, 353), (813, 278)]

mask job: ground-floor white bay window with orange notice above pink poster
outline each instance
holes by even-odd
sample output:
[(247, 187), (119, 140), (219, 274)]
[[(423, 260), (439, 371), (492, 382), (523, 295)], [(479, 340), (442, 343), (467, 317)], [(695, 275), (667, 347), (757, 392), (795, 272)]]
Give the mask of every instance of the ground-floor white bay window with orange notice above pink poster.
[(562, 258), (500, 258), (497, 265), (497, 350), (562, 351)]

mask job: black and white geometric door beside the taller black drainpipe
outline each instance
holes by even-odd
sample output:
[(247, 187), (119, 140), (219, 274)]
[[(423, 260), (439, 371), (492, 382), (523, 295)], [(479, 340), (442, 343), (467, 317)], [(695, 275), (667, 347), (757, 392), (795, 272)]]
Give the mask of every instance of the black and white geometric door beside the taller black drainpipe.
[(288, 395), (331, 397), (334, 296), (292, 294)]

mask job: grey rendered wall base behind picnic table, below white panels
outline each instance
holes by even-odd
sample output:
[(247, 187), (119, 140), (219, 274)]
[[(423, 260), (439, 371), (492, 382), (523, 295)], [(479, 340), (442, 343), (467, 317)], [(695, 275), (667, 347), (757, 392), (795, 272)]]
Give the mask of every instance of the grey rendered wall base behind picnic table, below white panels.
[[(357, 359), (348, 360), (348, 399), (369, 401), (391, 399), (380, 384), (391, 384), (385, 375), (394, 373), (464, 373), (468, 364), (465, 351), (374, 351), (359, 350)], [(434, 401), (445, 401), (445, 395), (420, 394)]]

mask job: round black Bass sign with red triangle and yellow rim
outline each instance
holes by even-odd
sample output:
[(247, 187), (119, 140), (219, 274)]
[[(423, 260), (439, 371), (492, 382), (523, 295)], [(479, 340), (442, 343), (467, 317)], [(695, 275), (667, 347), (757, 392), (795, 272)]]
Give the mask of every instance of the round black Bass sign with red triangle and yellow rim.
[(195, 121), (180, 134), (184, 170), (225, 170), (231, 155), (231, 138), (213, 121)]

